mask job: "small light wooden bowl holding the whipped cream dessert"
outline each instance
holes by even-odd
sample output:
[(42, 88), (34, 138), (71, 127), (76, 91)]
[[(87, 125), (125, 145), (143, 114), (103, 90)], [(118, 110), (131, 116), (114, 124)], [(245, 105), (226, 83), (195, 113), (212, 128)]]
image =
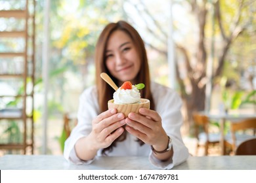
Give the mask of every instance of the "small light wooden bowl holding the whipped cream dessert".
[(130, 112), (139, 113), (140, 108), (150, 108), (150, 100), (140, 99), (140, 103), (116, 104), (114, 103), (114, 99), (112, 99), (108, 101), (108, 109), (110, 108), (116, 108), (117, 112), (125, 114), (125, 118), (127, 118)]

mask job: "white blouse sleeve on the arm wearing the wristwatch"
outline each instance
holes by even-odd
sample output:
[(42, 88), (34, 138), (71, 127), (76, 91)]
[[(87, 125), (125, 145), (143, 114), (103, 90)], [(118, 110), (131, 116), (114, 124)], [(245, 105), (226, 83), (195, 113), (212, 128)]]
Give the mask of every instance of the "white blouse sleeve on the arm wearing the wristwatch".
[(160, 169), (171, 169), (186, 161), (189, 156), (188, 148), (184, 145), (181, 137), (182, 101), (178, 93), (160, 84), (152, 83), (152, 93), (156, 111), (162, 119), (163, 129), (173, 142), (173, 158), (170, 161), (160, 161), (150, 152), (149, 159), (154, 166)]

